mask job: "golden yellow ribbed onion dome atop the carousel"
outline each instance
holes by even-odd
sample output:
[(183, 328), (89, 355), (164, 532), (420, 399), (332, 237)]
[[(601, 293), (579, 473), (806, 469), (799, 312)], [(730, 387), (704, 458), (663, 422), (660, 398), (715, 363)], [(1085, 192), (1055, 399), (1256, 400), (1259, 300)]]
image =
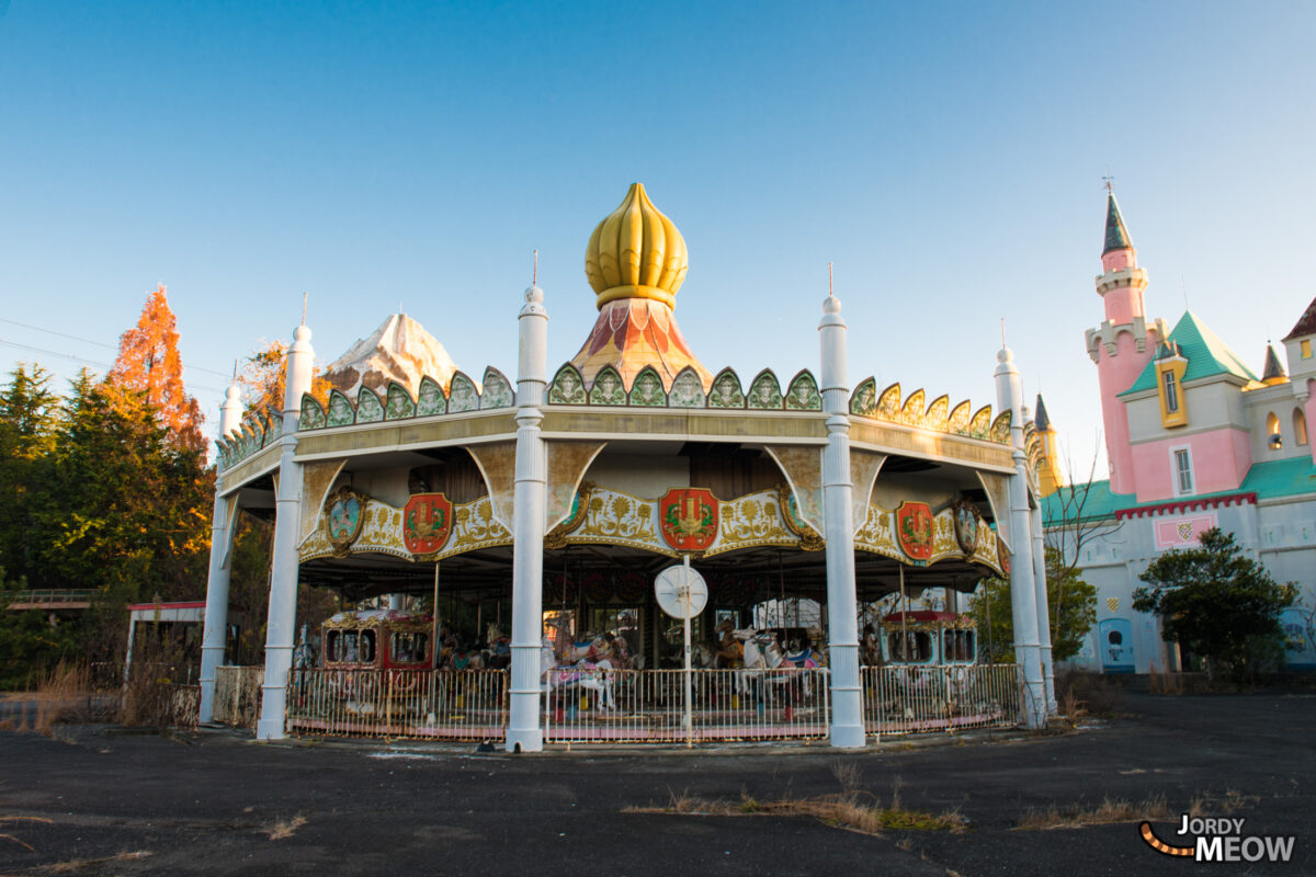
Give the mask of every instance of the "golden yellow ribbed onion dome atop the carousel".
[(584, 273), (600, 310), (619, 298), (651, 298), (674, 308), (687, 267), (686, 239), (649, 200), (642, 183), (630, 184), (584, 251)]

